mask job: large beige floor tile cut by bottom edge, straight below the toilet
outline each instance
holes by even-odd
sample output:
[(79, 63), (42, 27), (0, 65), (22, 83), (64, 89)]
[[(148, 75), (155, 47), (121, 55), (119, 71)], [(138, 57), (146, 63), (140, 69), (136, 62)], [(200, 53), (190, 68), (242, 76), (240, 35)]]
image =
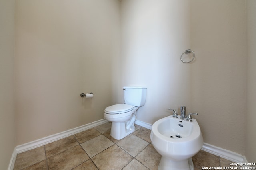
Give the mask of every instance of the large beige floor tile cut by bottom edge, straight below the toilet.
[(132, 156), (117, 145), (113, 145), (92, 158), (100, 170), (121, 170), (132, 160)]

